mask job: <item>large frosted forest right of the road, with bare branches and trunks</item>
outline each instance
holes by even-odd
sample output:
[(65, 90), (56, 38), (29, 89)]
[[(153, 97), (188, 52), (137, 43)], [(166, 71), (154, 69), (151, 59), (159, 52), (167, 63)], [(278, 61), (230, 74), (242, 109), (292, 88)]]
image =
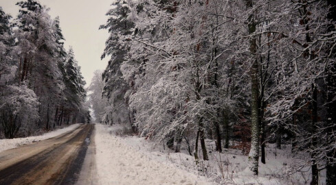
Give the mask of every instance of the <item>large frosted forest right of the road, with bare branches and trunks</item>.
[(291, 146), (311, 184), (322, 170), (334, 184), (336, 1), (116, 0), (107, 17), (109, 64), (89, 86), (97, 122), (186, 143), (196, 164), (215, 140), (254, 175), (267, 143)]

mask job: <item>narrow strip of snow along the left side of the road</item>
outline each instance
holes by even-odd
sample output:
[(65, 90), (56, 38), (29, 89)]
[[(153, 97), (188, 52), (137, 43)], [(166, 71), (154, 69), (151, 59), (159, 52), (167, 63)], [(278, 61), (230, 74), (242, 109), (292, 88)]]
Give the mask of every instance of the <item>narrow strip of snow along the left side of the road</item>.
[(65, 132), (69, 132), (71, 130), (76, 129), (80, 124), (69, 125), (69, 127), (64, 127), (58, 130), (54, 130), (52, 132), (47, 132), (41, 136), (30, 136), (27, 138), (12, 138), (12, 139), (1, 139), (0, 140), (0, 152), (8, 149), (12, 149), (15, 147), (20, 147), (22, 145), (34, 143), (36, 141), (45, 140), (48, 138), (53, 138)]

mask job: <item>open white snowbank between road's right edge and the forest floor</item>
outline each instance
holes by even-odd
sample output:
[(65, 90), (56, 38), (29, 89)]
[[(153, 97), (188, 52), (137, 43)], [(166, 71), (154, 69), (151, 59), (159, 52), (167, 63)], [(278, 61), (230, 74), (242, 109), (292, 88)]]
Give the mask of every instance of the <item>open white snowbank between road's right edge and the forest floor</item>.
[(115, 135), (113, 129), (96, 124), (98, 184), (212, 184), (169, 162), (151, 160), (149, 153), (128, 145), (124, 138)]

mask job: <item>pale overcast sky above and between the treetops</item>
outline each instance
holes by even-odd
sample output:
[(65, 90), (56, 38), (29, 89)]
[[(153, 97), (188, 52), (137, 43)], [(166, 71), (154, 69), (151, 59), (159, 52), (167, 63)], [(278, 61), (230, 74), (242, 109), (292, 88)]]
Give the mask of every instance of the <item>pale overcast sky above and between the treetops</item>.
[[(19, 12), (15, 3), (19, 0), (0, 0), (5, 13), (14, 18)], [(100, 60), (105, 40), (109, 34), (99, 26), (106, 23), (113, 0), (39, 0), (50, 8), (52, 18), (60, 17), (60, 27), (65, 37), (65, 48), (72, 46), (82, 75), (87, 84), (91, 82), (93, 71), (104, 70), (109, 58)]]

